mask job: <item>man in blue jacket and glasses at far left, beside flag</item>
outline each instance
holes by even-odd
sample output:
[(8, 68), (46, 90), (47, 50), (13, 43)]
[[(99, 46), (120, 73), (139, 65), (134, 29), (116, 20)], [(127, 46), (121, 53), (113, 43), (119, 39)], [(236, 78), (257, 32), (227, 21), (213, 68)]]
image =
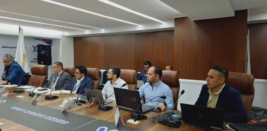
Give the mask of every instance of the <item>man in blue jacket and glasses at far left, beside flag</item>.
[(0, 85), (5, 84), (19, 84), (22, 77), (26, 74), (21, 67), (21, 65), (13, 59), (11, 54), (6, 54), (3, 56), (3, 63), (5, 64), (5, 69), (2, 74), (2, 82)]

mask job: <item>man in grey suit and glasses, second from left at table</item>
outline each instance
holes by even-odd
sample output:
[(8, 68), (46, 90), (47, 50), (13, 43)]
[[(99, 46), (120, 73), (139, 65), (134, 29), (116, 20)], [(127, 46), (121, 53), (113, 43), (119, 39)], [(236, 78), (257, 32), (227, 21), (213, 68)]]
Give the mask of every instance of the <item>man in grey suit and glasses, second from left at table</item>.
[(63, 64), (61, 62), (55, 62), (52, 68), (54, 73), (51, 75), (48, 84), (45, 85), (45, 88), (53, 90), (67, 90), (71, 85), (71, 75), (63, 70)]

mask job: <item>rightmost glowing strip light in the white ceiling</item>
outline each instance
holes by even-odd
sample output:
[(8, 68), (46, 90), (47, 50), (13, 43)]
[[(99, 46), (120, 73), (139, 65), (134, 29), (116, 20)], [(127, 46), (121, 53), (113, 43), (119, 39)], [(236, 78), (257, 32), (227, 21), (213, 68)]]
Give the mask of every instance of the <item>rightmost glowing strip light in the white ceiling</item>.
[(141, 17), (144, 17), (144, 18), (147, 18), (147, 19), (150, 19), (150, 20), (159, 22), (159, 23), (164, 23), (164, 22), (162, 22), (162, 21), (160, 21), (160, 20), (158, 20), (158, 19), (156, 19), (156, 18), (149, 17), (149, 16), (147, 16), (147, 15), (144, 15), (144, 14), (142, 14), (142, 13), (133, 11), (133, 10), (131, 10), (131, 9), (128, 9), (128, 8), (126, 8), (126, 7), (123, 7), (123, 6), (121, 6), (121, 5), (118, 5), (118, 4), (116, 4), (116, 3), (113, 3), (113, 2), (110, 2), (110, 1), (107, 1), (107, 0), (98, 0), (98, 1), (103, 2), (103, 3), (106, 3), (106, 4), (111, 5), (111, 6), (113, 6), (113, 7), (122, 9), (122, 10), (124, 10), (124, 11), (133, 13), (133, 14), (138, 15), (138, 16), (141, 16)]

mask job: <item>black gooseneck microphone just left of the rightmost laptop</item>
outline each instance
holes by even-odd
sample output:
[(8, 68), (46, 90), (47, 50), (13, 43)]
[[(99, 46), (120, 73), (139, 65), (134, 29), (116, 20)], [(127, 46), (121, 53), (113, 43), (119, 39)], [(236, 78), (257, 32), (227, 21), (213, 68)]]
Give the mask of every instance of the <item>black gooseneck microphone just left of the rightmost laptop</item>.
[[(184, 93), (184, 90), (181, 91), (181, 94), (180, 96)], [(176, 107), (177, 103), (178, 103), (178, 100), (180, 98), (180, 96), (177, 98), (177, 101), (175, 102), (174, 104), (174, 107)], [(167, 112), (169, 113), (169, 112)], [(181, 121), (180, 120), (172, 120), (172, 114), (173, 114), (173, 109), (171, 111), (171, 117), (169, 119), (162, 119), (161, 121), (159, 121), (159, 123), (162, 123), (162, 124), (165, 124), (165, 125), (168, 125), (168, 126), (172, 126), (172, 127), (175, 127), (175, 128), (178, 128), (180, 125), (181, 125)]]

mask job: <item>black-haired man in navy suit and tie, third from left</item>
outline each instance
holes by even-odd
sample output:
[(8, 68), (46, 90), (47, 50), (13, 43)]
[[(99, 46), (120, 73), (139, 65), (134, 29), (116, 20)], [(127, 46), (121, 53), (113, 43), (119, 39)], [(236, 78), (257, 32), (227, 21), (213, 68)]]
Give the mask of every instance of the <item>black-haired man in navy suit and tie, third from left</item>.
[(93, 79), (86, 76), (87, 68), (85, 66), (75, 66), (75, 68), (76, 79), (72, 80), (68, 90), (74, 94), (85, 94), (84, 89), (93, 89)]

